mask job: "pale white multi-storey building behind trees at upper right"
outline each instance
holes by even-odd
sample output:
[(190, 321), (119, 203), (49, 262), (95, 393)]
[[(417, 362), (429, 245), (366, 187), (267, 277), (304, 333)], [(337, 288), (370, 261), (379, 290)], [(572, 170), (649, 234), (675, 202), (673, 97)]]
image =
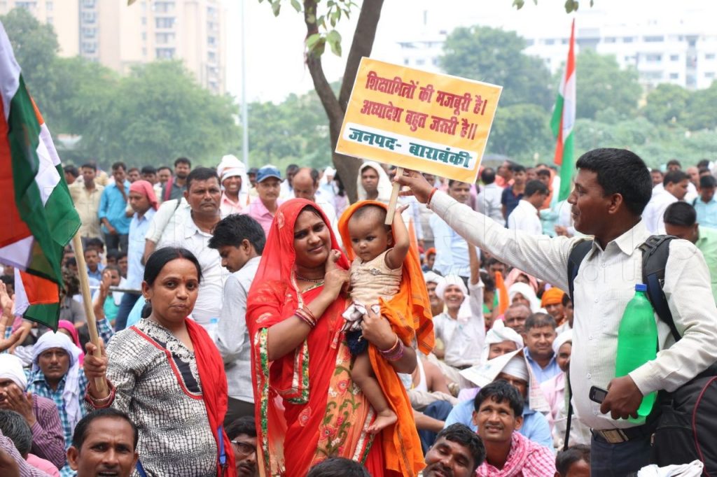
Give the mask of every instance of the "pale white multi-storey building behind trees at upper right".
[[(711, 16), (703, 11), (683, 9), (670, 16), (652, 15), (651, 11), (640, 16), (611, 16), (597, 7), (580, 11), (575, 29), (577, 52), (593, 49), (614, 56), (620, 67), (637, 70), (645, 89), (671, 83), (695, 90), (709, 87), (717, 80), (717, 33)], [(550, 25), (533, 21), (527, 14), (519, 20), (508, 22), (466, 14), (450, 25), (424, 21), (399, 40), (400, 50), (394, 57), (382, 59), (439, 72), (438, 58), (443, 54), (447, 34), (455, 26), (478, 24), (515, 30), (526, 39), (526, 54), (541, 58), (551, 72), (560, 69), (570, 39), (569, 18), (557, 17)], [(556, 27), (556, 23), (561, 26)], [(578, 77), (579, 74), (578, 64)]]

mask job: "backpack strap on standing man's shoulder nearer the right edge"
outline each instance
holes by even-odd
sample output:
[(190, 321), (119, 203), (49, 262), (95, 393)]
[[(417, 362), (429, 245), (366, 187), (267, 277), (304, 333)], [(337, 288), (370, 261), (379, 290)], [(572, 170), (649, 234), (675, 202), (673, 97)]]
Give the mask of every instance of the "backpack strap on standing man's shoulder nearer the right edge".
[(657, 316), (670, 327), (675, 341), (679, 341), (680, 333), (675, 327), (668, 299), (665, 297), (665, 268), (670, 255), (670, 242), (675, 236), (652, 235), (640, 246), (642, 250), (642, 282), (647, 285), (647, 299)]

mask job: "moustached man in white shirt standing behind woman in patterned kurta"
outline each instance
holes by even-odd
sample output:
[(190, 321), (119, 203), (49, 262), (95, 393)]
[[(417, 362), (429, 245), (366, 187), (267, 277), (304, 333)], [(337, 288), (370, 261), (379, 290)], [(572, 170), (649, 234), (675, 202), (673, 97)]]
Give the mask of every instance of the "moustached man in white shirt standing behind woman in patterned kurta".
[(166, 201), (149, 223), (144, 259), (165, 246), (184, 247), (196, 256), (201, 266), (201, 283), (191, 317), (206, 327), (212, 318), (219, 318), (224, 287), (219, 252), (208, 247), (212, 229), (220, 219), (222, 190), (217, 170), (195, 168), (187, 175), (186, 188), (185, 201)]

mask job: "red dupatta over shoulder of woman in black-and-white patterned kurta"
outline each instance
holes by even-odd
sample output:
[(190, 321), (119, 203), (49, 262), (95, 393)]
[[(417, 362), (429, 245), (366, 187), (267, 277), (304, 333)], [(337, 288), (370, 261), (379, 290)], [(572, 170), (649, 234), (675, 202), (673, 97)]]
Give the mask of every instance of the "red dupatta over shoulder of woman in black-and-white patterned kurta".
[[(217, 476), (235, 477), (237, 466), (234, 464), (234, 451), (232, 443), (229, 442), (227, 433), (224, 432), (224, 416), (227, 414), (227, 374), (224, 372), (224, 361), (219, 355), (214, 341), (209, 337), (201, 325), (191, 319), (186, 319), (186, 330), (189, 332), (189, 339), (194, 345), (194, 357), (196, 358), (196, 369), (199, 372), (201, 381), (201, 396), (206, 408), (206, 417), (209, 426), (212, 428), (214, 439), (217, 440)], [(224, 459), (222, 462), (222, 450)], [(222, 473), (222, 464), (226, 468)]]

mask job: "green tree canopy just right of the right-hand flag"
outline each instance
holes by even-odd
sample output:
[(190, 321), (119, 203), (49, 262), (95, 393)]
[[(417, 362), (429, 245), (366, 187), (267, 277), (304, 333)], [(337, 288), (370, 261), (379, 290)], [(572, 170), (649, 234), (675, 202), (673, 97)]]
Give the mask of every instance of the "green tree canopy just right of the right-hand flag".
[(577, 117), (594, 119), (597, 112), (612, 107), (619, 119), (635, 115), (642, 87), (637, 71), (620, 69), (614, 57), (584, 49), (575, 60)]

